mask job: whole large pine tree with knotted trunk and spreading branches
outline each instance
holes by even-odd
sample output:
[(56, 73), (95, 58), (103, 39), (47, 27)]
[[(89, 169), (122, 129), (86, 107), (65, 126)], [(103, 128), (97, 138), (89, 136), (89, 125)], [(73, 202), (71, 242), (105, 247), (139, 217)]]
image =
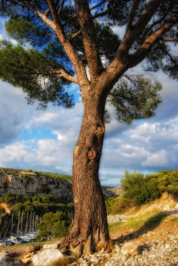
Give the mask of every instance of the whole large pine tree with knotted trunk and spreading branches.
[[(109, 240), (107, 214), (98, 169), (105, 125), (113, 105), (117, 120), (130, 124), (148, 118), (160, 102), (160, 83), (130, 72), (144, 61), (145, 71), (162, 69), (177, 78), (177, 0), (10, 0), (0, 1), (9, 17), (6, 30), (18, 41), (0, 43), (0, 78), (27, 93), (29, 104), (49, 101), (74, 105), (66, 85), (80, 86), (84, 115), (73, 150), (73, 227), (61, 245), (78, 256), (92, 254)], [(112, 30), (125, 26), (121, 40)], [(32, 48), (26, 48), (30, 44)], [(87, 70), (87, 71), (86, 71)], [(87, 74), (88, 73), (88, 74)], [(119, 83), (114, 86), (117, 82)]]

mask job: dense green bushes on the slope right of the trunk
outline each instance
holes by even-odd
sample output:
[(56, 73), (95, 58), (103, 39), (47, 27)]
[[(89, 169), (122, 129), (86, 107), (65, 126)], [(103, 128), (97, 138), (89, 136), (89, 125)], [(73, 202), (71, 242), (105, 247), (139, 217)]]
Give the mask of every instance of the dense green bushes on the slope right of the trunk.
[(121, 179), (124, 194), (120, 198), (105, 199), (108, 214), (120, 214), (132, 207), (138, 209), (143, 203), (153, 201), (163, 192), (168, 192), (178, 199), (178, 170), (160, 171), (157, 174), (125, 172), (125, 178)]

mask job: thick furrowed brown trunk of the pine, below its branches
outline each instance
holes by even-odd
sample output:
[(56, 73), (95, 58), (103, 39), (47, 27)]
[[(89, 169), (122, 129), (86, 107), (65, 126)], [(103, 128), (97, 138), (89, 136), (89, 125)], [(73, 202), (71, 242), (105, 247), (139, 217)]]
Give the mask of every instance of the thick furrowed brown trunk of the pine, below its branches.
[(98, 176), (105, 131), (105, 99), (96, 94), (87, 98), (80, 135), (73, 150), (74, 221), (60, 247), (62, 252), (71, 250), (77, 256), (91, 255), (100, 241), (105, 243), (110, 239)]

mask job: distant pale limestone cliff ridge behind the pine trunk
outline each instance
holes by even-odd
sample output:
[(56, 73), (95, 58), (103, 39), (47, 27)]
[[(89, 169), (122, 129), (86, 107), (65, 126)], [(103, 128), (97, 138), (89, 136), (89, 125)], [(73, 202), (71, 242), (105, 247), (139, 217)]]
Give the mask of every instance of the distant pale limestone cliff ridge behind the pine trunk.
[[(67, 200), (73, 200), (72, 181), (70, 179), (57, 179), (41, 176), (31, 172), (10, 171), (0, 169), (0, 194), (6, 192), (20, 193), (24, 196), (31, 194), (53, 194), (64, 196)], [(123, 194), (122, 187), (102, 186), (105, 198), (117, 198)]]

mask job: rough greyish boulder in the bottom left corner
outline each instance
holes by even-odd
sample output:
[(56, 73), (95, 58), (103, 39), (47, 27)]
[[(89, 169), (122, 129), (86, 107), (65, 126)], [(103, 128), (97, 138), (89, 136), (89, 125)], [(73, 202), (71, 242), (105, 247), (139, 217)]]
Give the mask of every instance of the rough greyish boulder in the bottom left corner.
[(2, 251), (0, 253), (0, 264), (1, 266), (22, 266), (24, 263), (21, 260), (14, 259), (12, 257), (12, 253), (9, 253), (7, 251)]

